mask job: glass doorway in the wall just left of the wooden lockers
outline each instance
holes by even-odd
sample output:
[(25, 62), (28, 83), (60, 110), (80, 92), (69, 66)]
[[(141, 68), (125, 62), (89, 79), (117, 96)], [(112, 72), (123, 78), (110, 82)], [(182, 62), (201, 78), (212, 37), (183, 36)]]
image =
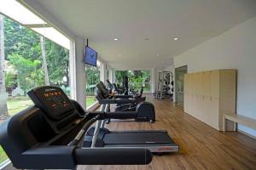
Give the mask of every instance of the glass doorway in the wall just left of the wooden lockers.
[(184, 105), (184, 74), (188, 73), (188, 65), (175, 68), (175, 101), (177, 105)]

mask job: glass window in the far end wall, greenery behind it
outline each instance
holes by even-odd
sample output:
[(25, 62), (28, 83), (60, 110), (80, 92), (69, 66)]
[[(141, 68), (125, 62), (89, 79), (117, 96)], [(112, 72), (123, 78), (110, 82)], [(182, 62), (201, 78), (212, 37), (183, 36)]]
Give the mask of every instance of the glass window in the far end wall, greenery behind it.
[(122, 86), (123, 77), (129, 79), (129, 88), (139, 90), (144, 88), (144, 92), (150, 92), (150, 71), (115, 71), (116, 83)]

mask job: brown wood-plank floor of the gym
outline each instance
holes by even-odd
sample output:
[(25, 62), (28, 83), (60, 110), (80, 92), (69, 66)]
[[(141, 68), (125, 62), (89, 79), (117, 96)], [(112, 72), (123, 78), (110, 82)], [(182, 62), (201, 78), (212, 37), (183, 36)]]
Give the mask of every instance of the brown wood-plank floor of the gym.
[(175, 154), (154, 156), (148, 165), (79, 166), (93, 169), (253, 169), (256, 170), (256, 140), (241, 133), (220, 133), (183, 112), (170, 100), (154, 100), (155, 123), (111, 122), (111, 130), (166, 129), (179, 145)]

